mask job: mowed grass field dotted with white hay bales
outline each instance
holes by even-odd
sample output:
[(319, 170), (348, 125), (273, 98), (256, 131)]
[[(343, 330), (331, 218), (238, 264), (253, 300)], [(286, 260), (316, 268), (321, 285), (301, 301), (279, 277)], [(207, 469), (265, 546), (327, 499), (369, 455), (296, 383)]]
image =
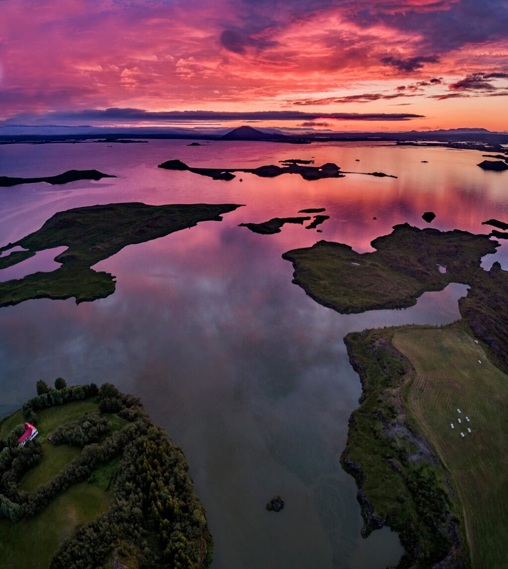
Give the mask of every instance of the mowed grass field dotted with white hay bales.
[(404, 399), (459, 492), (473, 567), (508, 567), (508, 376), (460, 325), (403, 328), (393, 344), (415, 368)]

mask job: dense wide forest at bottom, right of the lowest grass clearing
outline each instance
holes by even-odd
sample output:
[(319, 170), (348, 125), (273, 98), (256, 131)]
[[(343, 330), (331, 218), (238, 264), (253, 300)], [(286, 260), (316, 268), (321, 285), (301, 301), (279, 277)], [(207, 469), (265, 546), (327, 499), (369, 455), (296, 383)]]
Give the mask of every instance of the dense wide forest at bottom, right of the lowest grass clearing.
[[(147, 434), (123, 451), (111, 509), (67, 539), (51, 569), (97, 567), (125, 536), (138, 543), (142, 568), (195, 569), (211, 563), (213, 542), (187, 461), (163, 430), (145, 421)], [(147, 532), (158, 535), (158, 550), (143, 541)]]

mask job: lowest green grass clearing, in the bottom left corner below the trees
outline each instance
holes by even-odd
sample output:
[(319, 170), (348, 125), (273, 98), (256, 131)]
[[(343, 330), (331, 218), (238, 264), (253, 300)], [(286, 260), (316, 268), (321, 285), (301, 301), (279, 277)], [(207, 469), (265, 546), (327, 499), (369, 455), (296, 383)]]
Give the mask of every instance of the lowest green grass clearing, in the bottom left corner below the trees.
[(109, 508), (110, 495), (82, 482), (69, 488), (43, 512), (19, 523), (0, 520), (0, 567), (47, 569), (60, 543), (78, 523), (88, 522)]

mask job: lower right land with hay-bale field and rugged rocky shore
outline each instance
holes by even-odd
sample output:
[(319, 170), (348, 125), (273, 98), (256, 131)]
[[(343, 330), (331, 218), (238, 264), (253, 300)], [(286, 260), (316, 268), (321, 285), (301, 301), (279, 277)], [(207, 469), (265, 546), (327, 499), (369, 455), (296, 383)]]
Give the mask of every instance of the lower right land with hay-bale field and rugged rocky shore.
[(502, 567), (506, 373), (462, 323), (367, 330), (345, 341), (363, 395), (342, 463), (358, 484), (365, 533), (397, 530), (400, 567)]

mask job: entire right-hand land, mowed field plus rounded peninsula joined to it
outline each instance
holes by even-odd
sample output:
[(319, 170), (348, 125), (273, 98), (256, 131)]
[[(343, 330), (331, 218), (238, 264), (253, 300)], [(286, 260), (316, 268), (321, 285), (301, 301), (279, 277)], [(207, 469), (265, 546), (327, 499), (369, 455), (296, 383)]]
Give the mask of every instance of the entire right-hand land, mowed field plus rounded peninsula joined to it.
[(343, 313), (410, 306), (449, 282), (470, 288), (457, 323), (345, 338), (362, 397), (341, 461), (358, 485), (362, 534), (385, 525), (397, 531), (406, 551), (400, 569), (503, 567), (508, 272), (497, 262), (480, 267), (498, 244), (405, 224), (372, 245), (374, 253), (358, 254), (321, 241), (283, 257), (294, 263), (294, 282)]

